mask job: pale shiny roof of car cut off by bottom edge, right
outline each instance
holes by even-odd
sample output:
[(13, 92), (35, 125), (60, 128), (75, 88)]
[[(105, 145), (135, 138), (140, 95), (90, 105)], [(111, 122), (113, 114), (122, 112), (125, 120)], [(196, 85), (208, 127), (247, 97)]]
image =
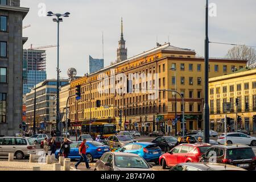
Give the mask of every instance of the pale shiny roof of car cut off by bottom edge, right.
[(246, 171), (243, 168), (237, 167), (237, 166), (233, 166), (233, 165), (229, 165), (229, 164), (220, 164), (220, 163), (180, 163), (177, 165), (183, 165), (183, 166), (191, 166), (191, 167), (195, 167), (195, 168), (199, 168), (202, 169), (204, 171), (208, 170), (208, 169), (214, 169), (216, 171), (220, 171), (220, 170), (241, 170), (241, 171)]

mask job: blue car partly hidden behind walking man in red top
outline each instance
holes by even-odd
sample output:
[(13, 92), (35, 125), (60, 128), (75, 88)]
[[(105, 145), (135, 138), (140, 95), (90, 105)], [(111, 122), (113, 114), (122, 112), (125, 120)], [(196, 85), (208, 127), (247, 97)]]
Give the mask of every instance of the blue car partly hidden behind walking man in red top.
[[(79, 142), (73, 142), (70, 144), (70, 153), (68, 155), (68, 158), (70, 159), (80, 159), (81, 156), (79, 155), (79, 146), (82, 143), (82, 141)], [(86, 156), (88, 159), (88, 162), (93, 162), (94, 159), (100, 159), (101, 156), (105, 152), (109, 152), (110, 148), (109, 146), (105, 146), (100, 142), (96, 141), (86, 141)], [(59, 158), (59, 152), (60, 149), (56, 150), (55, 152), (55, 158)]]

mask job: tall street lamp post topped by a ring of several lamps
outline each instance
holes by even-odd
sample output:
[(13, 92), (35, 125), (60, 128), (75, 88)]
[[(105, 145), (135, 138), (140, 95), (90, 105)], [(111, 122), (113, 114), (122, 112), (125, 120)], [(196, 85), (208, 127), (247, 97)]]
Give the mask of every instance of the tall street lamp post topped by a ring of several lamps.
[(52, 11), (49, 11), (47, 16), (56, 16), (56, 18), (53, 18), (53, 22), (57, 22), (57, 108), (56, 108), (56, 135), (57, 137), (60, 136), (59, 128), (57, 127), (60, 122), (60, 69), (59, 69), (59, 51), (60, 51), (60, 42), (59, 42), (59, 36), (60, 36), (60, 22), (63, 22), (63, 19), (60, 18), (63, 17), (69, 17), (70, 13), (65, 14), (54, 14)]

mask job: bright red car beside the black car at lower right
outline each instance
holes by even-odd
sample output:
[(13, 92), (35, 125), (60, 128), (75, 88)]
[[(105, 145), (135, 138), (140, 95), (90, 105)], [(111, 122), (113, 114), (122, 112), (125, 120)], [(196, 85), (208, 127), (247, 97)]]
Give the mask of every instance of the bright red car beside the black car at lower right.
[(201, 155), (207, 151), (211, 145), (208, 143), (183, 143), (172, 148), (170, 152), (163, 154), (159, 158), (159, 164), (166, 169), (179, 163), (199, 162)]

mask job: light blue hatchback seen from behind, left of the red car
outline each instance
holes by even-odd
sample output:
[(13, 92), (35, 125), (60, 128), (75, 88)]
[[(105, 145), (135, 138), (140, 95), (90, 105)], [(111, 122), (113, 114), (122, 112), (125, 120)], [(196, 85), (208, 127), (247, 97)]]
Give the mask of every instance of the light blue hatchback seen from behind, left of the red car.
[(150, 142), (129, 143), (123, 146), (119, 152), (138, 154), (146, 162), (155, 162), (155, 164), (159, 163), (159, 157), (162, 155), (161, 148), (158, 144)]

